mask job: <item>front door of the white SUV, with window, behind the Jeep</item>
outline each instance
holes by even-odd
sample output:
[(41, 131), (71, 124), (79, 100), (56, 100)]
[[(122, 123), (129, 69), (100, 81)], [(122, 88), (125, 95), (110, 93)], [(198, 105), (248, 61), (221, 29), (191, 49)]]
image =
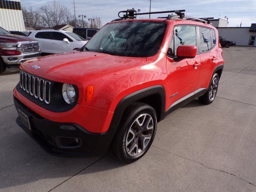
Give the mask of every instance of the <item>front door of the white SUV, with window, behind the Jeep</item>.
[[(63, 41), (68, 39), (69, 43)], [(52, 51), (53, 53), (64, 53), (71, 51), (73, 40), (61, 32), (52, 32)]]

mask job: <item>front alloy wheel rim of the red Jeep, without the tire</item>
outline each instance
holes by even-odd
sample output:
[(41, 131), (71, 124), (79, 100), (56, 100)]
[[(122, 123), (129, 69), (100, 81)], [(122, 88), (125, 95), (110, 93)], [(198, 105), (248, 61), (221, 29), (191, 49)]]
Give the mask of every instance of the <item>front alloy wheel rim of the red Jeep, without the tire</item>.
[(141, 114), (130, 126), (125, 147), (130, 156), (136, 156), (146, 150), (153, 134), (154, 122), (150, 114)]

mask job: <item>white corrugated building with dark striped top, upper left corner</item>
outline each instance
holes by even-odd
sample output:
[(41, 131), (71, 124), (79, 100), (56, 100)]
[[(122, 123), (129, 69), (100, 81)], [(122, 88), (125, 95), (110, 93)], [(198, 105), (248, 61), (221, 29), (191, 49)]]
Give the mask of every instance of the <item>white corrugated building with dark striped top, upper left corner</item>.
[(7, 31), (25, 31), (20, 0), (0, 0), (0, 27)]

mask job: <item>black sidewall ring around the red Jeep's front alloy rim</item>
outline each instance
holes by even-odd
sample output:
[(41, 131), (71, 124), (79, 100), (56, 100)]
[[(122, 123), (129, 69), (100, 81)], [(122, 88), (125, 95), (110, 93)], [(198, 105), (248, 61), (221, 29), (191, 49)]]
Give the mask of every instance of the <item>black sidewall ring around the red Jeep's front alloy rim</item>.
[[(125, 143), (126, 143), (126, 137), (127, 137), (127, 134), (128, 134), (128, 131), (130, 129), (130, 127), (132, 126), (134, 120), (140, 116), (141, 114), (144, 114), (144, 113), (147, 113), (147, 114), (150, 114), (150, 116), (152, 117), (153, 119), (153, 123), (154, 123), (154, 128), (153, 128), (153, 133), (152, 133), (152, 137), (150, 139), (150, 142), (148, 143), (148, 145), (146, 146), (146, 149), (141, 152), (140, 154), (136, 155), (136, 156), (130, 156), (128, 154), (128, 152), (126, 151), (126, 146), (125, 146)], [(146, 108), (146, 109), (143, 109), (143, 110), (140, 110), (138, 109), (138, 112), (131, 118), (130, 122), (127, 124), (127, 127), (126, 127), (126, 131), (124, 133), (124, 136), (123, 136), (123, 140), (122, 140), (122, 149), (123, 149), (123, 154), (124, 154), (124, 158), (127, 160), (127, 161), (130, 161), (130, 162), (133, 162), (135, 160), (138, 160), (139, 158), (141, 158), (144, 154), (146, 154), (146, 152), (148, 151), (148, 149), (150, 148), (152, 142), (154, 141), (154, 137), (156, 136), (156, 128), (157, 128), (157, 119), (156, 119), (156, 112), (154, 111), (154, 109), (152, 108)]]

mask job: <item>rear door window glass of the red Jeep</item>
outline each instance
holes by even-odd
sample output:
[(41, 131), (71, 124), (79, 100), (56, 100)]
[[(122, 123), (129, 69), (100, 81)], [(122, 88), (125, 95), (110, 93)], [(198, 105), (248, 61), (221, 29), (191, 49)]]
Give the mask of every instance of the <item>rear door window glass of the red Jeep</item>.
[(212, 48), (211, 45), (211, 30), (204, 27), (199, 27), (200, 35), (200, 52), (206, 52)]

